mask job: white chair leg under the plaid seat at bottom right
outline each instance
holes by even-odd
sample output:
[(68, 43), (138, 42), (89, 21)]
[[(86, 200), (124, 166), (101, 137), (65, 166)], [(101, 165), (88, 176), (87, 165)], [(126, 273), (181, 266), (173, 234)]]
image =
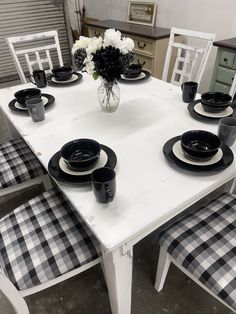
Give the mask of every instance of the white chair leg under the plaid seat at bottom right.
[(166, 275), (170, 266), (170, 257), (165, 249), (160, 247), (159, 260), (157, 266), (155, 289), (160, 292), (166, 280)]

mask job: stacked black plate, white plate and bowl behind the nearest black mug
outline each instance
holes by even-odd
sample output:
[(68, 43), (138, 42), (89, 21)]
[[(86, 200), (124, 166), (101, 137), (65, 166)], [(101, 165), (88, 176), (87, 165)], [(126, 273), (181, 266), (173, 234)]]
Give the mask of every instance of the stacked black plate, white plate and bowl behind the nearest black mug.
[(100, 168), (114, 169), (115, 152), (93, 139), (76, 139), (65, 143), (48, 163), (49, 173), (58, 181), (71, 185), (91, 184), (92, 173)]

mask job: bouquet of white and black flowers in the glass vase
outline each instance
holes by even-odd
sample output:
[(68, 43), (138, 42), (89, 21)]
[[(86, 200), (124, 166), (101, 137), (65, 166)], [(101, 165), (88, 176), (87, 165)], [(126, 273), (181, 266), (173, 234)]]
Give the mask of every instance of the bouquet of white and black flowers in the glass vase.
[(108, 29), (103, 39), (80, 36), (72, 53), (79, 70), (86, 70), (94, 79), (102, 77), (110, 83), (118, 80), (133, 61), (133, 48), (132, 39), (122, 37), (118, 30)]

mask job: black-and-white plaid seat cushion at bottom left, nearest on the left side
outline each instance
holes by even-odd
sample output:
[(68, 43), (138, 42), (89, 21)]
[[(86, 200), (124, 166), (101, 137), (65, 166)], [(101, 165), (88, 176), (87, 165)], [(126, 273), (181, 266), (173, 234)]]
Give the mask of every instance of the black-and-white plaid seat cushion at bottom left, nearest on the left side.
[(57, 189), (0, 220), (0, 264), (18, 290), (45, 283), (100, 256), (100, 244)]

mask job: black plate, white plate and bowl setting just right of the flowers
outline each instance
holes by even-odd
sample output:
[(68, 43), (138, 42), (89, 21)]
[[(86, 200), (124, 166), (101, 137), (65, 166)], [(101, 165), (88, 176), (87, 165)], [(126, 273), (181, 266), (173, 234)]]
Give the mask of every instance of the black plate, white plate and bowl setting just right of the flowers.
[(139, 81), (147, 80), (151, 76), (151, 73), (143, 70), (142, 64), (133, 63), (121, 74), (119, 82), (123, 83), (137, 83)]

